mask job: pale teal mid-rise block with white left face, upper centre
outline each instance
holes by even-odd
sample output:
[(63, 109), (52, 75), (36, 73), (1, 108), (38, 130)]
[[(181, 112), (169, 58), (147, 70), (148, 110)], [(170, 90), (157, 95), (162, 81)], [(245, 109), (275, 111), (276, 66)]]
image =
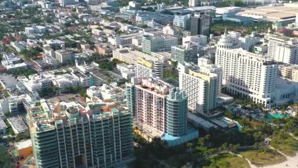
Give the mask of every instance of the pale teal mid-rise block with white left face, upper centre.
[(171, 46), (176, 46), (178, 40), (172, 36), (149, 36), (144, 35), (142, 38), (142, 51), (146, 54), (159, 51), (171, 51)]

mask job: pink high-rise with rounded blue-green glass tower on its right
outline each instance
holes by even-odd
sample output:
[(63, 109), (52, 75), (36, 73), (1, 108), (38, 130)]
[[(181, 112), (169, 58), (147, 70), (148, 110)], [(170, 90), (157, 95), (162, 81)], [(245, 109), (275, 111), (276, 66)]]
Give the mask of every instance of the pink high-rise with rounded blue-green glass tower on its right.
[(198, 131), (187, 126), (184, 91), (152, 77), (141, 79), (140, 83), (132, 80), (126, 84), (126, 91), (129, 111), (135, 113), (133, 125), (142, 131), (145, 139), (160, 137), (174, 146), (198, 138)]

